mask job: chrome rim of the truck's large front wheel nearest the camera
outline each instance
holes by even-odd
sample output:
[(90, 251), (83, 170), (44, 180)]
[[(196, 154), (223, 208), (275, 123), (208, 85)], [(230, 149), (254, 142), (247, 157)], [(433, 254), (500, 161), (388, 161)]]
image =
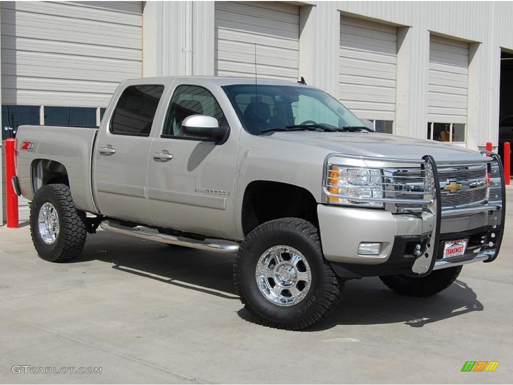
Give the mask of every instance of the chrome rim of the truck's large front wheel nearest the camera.
[(310, 266), (304, 255), (284, 245), (271, 247), (260, 256), (255, 278), (262, 295), (280, 306), (301, 302), (312, 282)]

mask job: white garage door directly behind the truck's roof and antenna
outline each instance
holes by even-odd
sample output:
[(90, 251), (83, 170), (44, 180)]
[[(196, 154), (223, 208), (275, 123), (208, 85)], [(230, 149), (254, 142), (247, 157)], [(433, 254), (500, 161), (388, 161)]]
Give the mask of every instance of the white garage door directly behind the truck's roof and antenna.
[(215, 3), (215, 73), (298, 80), (299, 7), (275, 2)]

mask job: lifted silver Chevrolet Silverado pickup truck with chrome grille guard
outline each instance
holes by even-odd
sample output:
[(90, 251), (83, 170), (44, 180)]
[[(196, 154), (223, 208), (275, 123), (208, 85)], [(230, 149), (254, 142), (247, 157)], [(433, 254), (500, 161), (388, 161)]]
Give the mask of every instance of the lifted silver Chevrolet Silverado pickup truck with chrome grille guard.
[(41, 258), (77, 257), (98, 226), (236, 253), (236, 293), (276, 328), (314, 324), (352, 278), (436, 294), (504, 230), (494, 153), (373, 132), (304, 84), (128, 80), (100, 127), (22, 126), (17, 150)]

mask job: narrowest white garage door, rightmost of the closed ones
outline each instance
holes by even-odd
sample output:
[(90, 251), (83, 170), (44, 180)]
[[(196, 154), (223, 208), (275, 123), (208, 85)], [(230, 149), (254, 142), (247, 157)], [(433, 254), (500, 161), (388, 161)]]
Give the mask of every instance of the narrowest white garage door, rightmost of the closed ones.
[(468, 43), (431, 35), (428, 122), (467, 122)]

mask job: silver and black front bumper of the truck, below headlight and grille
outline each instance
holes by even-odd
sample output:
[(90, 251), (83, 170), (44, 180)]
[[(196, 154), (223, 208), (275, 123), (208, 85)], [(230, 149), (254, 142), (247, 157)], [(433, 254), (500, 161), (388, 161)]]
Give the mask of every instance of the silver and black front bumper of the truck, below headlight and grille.
[[(436, 173), (436, 164), (433, 167)], [(494, 260), (504, 210), (505, 191), (502, 202), (458, 210), (442, 210), (435, 203), (421, 214), (319, 204), (318, 218), (324, 256), (340, 276), (422, 276), (435, 269)], [(464, 238), (469, 239), (465, 255), (442, 259), (445, 241)], [(380, 254), (358, 254), (361, 242), (382, 243)], [(421, 245), (420, 256), (414, 255), (416, 245)]]

